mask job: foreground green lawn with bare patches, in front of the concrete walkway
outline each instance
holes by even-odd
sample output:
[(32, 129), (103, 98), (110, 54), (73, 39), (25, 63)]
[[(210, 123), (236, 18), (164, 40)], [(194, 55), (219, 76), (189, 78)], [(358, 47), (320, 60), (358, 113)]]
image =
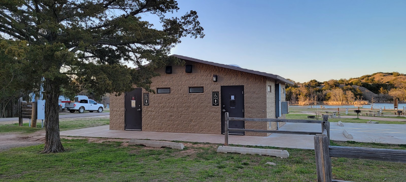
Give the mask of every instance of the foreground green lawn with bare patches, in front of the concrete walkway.
[[(123, 146), (123, 142), (63, 139), (66, 152), (40, 154), (43, 145), (0, 152), (0, 181), (270, 181), (315, 182), (314, 150), (285, 149), (287, 159), (217, 153), (217, 144), (185, 144), (184, 150)], [(405, 145), (337, 142), (332, 145), (405, 150)], [(274, 147), (261, 147), (274, 148)], [(266, 165), (276, 163), (276, 166)], [(406, 164), (332, 158), (333, 178), (356, 182), (404, 182)], [(385, 180), (386, 179), (386, 180)]]

